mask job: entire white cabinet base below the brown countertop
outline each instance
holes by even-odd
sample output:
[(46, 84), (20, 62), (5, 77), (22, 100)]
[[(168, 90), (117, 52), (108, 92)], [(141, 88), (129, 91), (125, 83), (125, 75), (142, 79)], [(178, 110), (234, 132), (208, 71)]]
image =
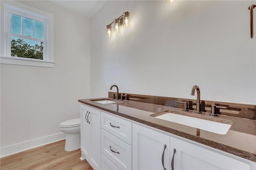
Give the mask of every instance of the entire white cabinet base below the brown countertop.
[(255, 162), (83, 104), (81, 151), (94, 170), (256, 170)]

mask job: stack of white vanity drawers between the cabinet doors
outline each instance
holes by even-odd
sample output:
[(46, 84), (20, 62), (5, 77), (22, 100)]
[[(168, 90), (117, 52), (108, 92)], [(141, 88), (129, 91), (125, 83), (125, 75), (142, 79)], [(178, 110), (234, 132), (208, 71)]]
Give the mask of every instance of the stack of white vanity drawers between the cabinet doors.
[(132, 169), (132, 123), (101, 112), (101, 152), (104, 168)]

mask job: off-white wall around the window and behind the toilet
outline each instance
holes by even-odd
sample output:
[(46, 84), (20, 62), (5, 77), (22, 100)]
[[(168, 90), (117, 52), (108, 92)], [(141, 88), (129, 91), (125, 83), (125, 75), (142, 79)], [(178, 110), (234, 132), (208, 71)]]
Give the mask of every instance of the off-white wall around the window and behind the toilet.
[(47, 136), (61, 132), (60, 122), (80, 117), (78, 99), (90, 98), (90, 20), (47, 1), (18, 2), (54, 14), (56, 63), (0, 65), (1, 156), (22, 149), (20, 142), (51, 142)]

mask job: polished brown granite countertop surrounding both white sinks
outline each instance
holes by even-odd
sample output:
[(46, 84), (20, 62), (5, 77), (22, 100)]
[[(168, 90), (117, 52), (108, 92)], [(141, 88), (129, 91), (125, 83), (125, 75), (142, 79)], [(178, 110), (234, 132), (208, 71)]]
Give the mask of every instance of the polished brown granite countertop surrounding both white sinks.
[(216, 134), (150, 116), (154, 113), (160, 113), (167, 110), (182, 112), (182, 109), (180, 108), (128, 100), (122, 101), (111, 99), (111, 101), (115, 101), (116, 103), (110, 104), (100, 104), (90, 100), (92, 99), (80, 99), (78, 101), (103, 111), (113, 113), (150, 127), (158, 128), (256, 162), (256, 120), (226, 115), (211, 117), (209, 113), (202, 113), (198, 115), (194, 113), (194, 111), (186, 112), (187, 114), (190, 113), (192, 117), (200, 116), (205, 117), (206, 119), (218, 119), (218, 121), (223, 123), (226, 120), (233, 121), (232, 126), (226, 134)]

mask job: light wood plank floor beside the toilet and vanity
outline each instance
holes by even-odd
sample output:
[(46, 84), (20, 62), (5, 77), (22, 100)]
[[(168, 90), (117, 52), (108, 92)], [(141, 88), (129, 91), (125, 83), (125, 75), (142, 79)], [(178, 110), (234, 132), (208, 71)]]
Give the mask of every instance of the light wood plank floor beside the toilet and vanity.
[(1, 170), (93, 170), (80, 160), (80, 149), (67, 152), (65, 140), (26, 150), (0, 159)]

